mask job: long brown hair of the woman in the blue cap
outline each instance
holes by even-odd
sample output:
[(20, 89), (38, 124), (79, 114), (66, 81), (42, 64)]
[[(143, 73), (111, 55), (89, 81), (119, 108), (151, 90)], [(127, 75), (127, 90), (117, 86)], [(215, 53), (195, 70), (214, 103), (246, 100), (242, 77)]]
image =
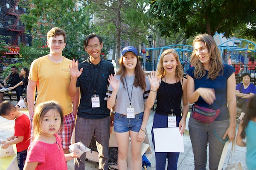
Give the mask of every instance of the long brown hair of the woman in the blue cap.
[[(125, 79), (126, 69), (125, 69), (125, 65), (123, 63), (123, 57), (121, 57), (119, 59), (119, 64), (120, 64), (120, 69), (116, 74), (121, 74), (120, 81), (122, 82), (122, 84), (125, 88), (124, 79)], [(134, 86), (141, 87), (143, 90), (146, 89), (145, 73), (141, 68), (140, 59), (138, 56), (137, 56), (137, 65), (135, 67)]]

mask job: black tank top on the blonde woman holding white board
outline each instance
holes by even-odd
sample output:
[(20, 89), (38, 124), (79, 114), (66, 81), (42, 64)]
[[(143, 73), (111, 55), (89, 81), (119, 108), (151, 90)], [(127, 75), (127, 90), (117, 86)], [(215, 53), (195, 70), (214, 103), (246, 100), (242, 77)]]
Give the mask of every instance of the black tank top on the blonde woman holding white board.
[[(168, 88), (169, 97), (168, 97), (166, 85)], [(176, 91), (175, 91), (175, 86), (176, 86)], [(174, 93), (175, 93), (175, 99), (174, 99)], [(173, 106), (172, 106), (173, 114), (176, 114), (176, 116), (180, 116), (181, 115), (180, 102), (181, 102), (182, 94), (183, 94), (183, 91), (182, 91), (182, 85), (180, 81), (174, 84), (168, 84), (166, 82), (163, 82), (162, 80), (157, 91), (156, 113), (164, 116), (167, 116), (168, 114), (172, 114), (171, 106), (170, 106), (170, 102), (171, 102), (171, 105), (173, 103)], [(169, 102), (169, 98), (170, 98), (170, 102)]]

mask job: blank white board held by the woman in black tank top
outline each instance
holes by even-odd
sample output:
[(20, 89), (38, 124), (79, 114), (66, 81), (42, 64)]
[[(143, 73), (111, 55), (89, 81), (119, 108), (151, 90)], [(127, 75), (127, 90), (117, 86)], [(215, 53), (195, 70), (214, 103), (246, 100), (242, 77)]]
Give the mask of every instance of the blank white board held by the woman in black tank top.
[(179, 127), (154, 128), (155, 152), (184, 152)]

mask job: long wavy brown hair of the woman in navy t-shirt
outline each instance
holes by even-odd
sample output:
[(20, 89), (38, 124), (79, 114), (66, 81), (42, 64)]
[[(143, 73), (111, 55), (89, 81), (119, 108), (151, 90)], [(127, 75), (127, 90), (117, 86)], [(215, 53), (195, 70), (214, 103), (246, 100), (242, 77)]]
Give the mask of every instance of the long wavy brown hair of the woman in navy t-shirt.
[[(218, 49), (216, 42), (213, 37), (208, 34), (199, 34), (193, 40), (193, 46), (195, 42), (204, 42), (208, 52), (209, 52), (209, 73), (207, 79), (214, 80), (216, 77), (223, 75), (223, 62), (221, 58), (221, 52)], [(204, 69), (203, 63), (195, 54), (195, 49), (193, 50), (192, 55), (190, 56), (190, 63), (195, 67), (194, 75), (195, 78), (201, 79), (205, 76), (206, 71)]]

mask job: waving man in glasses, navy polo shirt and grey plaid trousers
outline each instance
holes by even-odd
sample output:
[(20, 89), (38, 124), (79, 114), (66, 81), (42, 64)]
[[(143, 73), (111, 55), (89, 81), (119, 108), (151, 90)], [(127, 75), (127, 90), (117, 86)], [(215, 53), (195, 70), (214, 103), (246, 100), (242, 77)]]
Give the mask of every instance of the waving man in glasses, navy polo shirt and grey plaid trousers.
[[(102, 39), (96, 34), (89, 34), (84, 40), (84, 49), (89, 54), (85, 61), (78, 64), (73, 60), (70, 65), (70, 96), (76, 91), (81, 93), (78, 107), (75, 142), (89, 146), (93, 134), (99, 152), (99, 170), (108, 170), (108, 141), (110, 135), (110, 111), (104, 100), (108, 91), (108, 77), (114, 74), (113, 64), (100, 57)], [(73, 106), (73, 109), (77, 106)], [(86, 153), (75, 161), (75, 170), (84, 170)]]

